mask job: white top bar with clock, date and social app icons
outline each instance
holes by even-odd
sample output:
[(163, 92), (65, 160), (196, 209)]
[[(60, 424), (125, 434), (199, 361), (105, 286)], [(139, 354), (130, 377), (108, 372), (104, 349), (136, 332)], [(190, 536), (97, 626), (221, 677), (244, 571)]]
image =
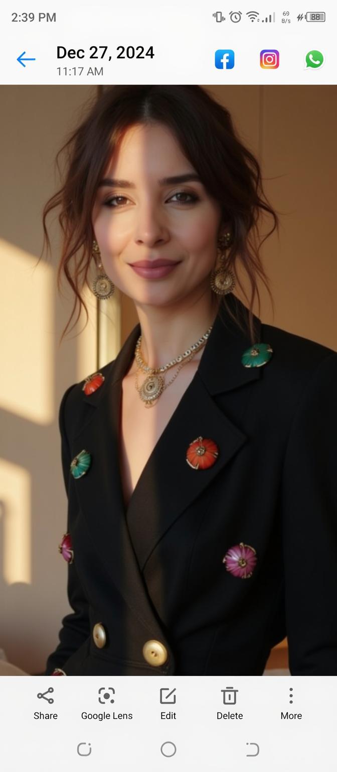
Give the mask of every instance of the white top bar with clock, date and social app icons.
[(337, 8), (2, 8), (2, 83), (335, 84)]

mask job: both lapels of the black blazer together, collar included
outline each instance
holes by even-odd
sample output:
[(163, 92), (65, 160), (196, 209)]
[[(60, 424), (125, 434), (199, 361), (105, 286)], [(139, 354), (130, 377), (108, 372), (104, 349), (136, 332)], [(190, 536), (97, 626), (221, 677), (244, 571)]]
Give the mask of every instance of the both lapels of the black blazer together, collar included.
[[(245, 306), (229, 296), (229, 307), (236, 303), (245, 312)], [(259, 341), (256, 317), (255, 325)], [(241, 356), (250, 341), (229, 317), (224, 323), (218, 314), (198, 371), (159, 437), (125, 513), (119, 462), (122, 378), (140, 332), (137, 324), (118, 357), (106, 367), (102, 387), (90, 396), (83, 394), (95, 411), (76, 435), (72, 452), (92, 453), (88, 473), (75, 482), (92, 543), (135, 616), (160, 638), (162, 630), (142, 568), (165, 531), (246, 442), (244, 432), (216, 405), (214, 395), (260, 378), (262, 368), (242, 366)], [(219, 457), (209, 469), (195, 470), (186, 462), (189, 444), (199, 436), (212, 438), (219, 448)]]

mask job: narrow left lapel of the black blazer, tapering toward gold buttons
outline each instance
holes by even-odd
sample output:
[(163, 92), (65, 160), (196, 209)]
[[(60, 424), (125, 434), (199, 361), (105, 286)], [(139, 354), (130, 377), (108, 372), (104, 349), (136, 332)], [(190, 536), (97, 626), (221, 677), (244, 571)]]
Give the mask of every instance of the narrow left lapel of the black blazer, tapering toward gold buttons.
[(85, 449), (92, 454), (88, 473), (75, 481), (92, 544), (135, 618), (148, 629), (151, 637), (162, 638), (162, 628), (154, 614), (128, 533), (118, 455), (122, 378), (132, 361), (139, 334), (140, 326), (137, 325), (115, 361), (103, 368), (104, 384), (89, 396), (83, 394), (83, 400), (88, 401), (95, 411), (72, 442), (72, 453), (75, 456)]

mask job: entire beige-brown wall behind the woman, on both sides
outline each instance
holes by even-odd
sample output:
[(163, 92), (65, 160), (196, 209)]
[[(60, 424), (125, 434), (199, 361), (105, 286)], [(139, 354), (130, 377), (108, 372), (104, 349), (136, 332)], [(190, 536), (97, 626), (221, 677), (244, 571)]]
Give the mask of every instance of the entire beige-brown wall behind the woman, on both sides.
[[(337, 350), (337, 89), (206, 87), (231, 111), (262, 164), (266, 195), (283, 213), (279, 237), (262, 247), (275, 300), (272, 317), (262, 289), (262, 320)], [(71, 305), (56, 294), (56, 236), (52, 260), (32, 269), (42, 247), (42, 205), (55, 190), (55, 151), (88, 97), (95, 97), (94, 87), (0, 89), (0, 648), (30, 672), (43, 669), (67, 611), (65, 564), (57, 552), (66, 510), (58, 405), (65, 388), (96, 366), (92, 301), (88, 328), (58, 349)], [(123, 297), (122, 340), (136, 321)], [(113, 356), (107, 344), (100, 364)]]

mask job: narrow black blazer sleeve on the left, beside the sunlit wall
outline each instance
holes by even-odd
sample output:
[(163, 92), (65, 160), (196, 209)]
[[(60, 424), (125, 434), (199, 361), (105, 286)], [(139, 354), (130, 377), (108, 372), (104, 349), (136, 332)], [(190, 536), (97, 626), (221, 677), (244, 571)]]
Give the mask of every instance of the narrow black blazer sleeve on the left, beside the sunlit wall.
[[(61, 433), (62, 472), (65, 480), (65, 490), (68, 496), (68, 483), (70, 474), (71, 455), (68, 439), (65, 431), (65, 403), (70, 391), (75, 384), (70, 386), (62, 397), (58, 413), (58, 426)], [(67, 532), (72, 533), (71, 515), (68, 507)], [(55, 651), (49, 655), (45, 673), (50, 675), (55, 668), (63, 667), (66, 660), (85, 642), (90, 635), (88, 618), (88, 600), (85, 591), (78, 578), (75, 561), (68, 564), (68, 601), (72, 607), (72, 613), (62, 619), (62, 629), (59, 631), (59, 644)]]

